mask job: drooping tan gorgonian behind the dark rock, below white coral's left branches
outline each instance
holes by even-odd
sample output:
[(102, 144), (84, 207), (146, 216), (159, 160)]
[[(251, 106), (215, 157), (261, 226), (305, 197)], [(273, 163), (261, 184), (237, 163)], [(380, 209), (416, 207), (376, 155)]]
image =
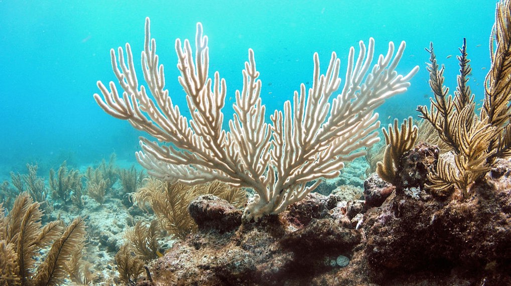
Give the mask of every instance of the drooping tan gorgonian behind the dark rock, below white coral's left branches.
[(146, 206), (150, 206), (162, 228), (179, 239), (186, 238), (197, 229), (188, 212), (188, 205), (195, 197), (213, 194), (236, 207), (242, 207), (246, 203), (245, 191), (218, 181), (196, 186), (172, 184), (154, 177), (148, 177), (144, 181), (144, 187), (132, 195), (133, 202), (146, 211)]

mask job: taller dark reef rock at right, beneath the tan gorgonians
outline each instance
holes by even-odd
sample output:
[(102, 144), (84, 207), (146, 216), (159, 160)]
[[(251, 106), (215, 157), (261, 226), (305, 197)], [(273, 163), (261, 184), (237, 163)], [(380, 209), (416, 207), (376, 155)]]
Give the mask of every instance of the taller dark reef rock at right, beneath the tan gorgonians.
[(511, 285), (511, 164), (501, 160), (463, 199), (402, 188), (364, 215), (370, 281)]

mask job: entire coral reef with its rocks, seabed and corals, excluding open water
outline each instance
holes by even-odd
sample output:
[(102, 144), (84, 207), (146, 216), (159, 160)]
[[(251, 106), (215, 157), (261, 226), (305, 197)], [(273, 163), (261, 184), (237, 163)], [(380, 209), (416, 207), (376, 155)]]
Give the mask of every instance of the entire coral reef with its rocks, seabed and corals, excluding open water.
[(86, 170), (11, 172), (0, 285), (511, 285), (509, 0), (497, 4), (481, 108), (470, 44), (450, 94), (431, 43), (430, 105), (382, 128), (384, 144), (376, 109), (419, 70), (396, 71), (404, 42), (375, 58), (374, 39), (360, 41), (342, 81), (336, 53), (323, 73), (314, 54), (311, 87), (267, 122), (252, 49), (224, 121), (207, 41), (198, 23), (194, 48), (175, 42), (186, 107), (165, 87), (149, 18), (143, 81), (129, 44), (110, 51), (118, 83), (98, 82), (94, 98), (149, 135), (136, 153), (145, 170), (112, 154)]

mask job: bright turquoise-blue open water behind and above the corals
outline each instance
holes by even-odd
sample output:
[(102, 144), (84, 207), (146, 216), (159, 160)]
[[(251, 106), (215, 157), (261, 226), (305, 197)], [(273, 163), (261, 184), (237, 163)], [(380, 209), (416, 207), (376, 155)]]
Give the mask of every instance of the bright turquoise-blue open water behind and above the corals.
[[(417, 105), (431, 95), (424, 50), (435, 44), (446, 65), (451, 93), (458, 73), (458, 47), (467, 38), (472, 60), (470, 85), (479, 101), (490, 67), (489, 36), (495, 1), (0, 1), (0, 178), (9, 170), (25, 171), (27, 162), (73, 165), (98, 162), (115, 151), (133, 160), (135, 131), (104, 113), (92, 94), (96, 82), (115, 80), (110, 48), (131, 44), (139, 83), (144, 20), (151, 18), (166, 87), (185, 109), (177, 82), (176, 38), (194, 39), (196, 22), (209, 37), (210, 75), (218, 70), (227, 82), (225, 123), (234, 94), (242, 88), (247, 50), (255, 52), (261, 72), (267, 117), (291, 99), (300, 83), (311, 82), (312, 55), (322, 72), (330, 54), (341, 59), (344, 80), (350, 46), (376, 40), (377, 54), (388, 41), (407, 42), (398, 71), (419, 65), (406, 94), (388, 100), (379, 112), (384, 124), (416, 116)], [(452, 55), (452, 57), (447, 58)], [(484, 69), (485, 68), (485, 69)]]

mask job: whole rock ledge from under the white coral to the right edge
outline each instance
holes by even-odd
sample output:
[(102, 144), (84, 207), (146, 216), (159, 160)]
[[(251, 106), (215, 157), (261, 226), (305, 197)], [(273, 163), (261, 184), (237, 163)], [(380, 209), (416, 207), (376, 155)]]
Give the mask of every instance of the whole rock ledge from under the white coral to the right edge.
[[(403, 156), (413, 160), (403, 165), (408, 171), (424, 170), (421, 158), (431, 161), (428, 146), (411, 153)], [(208, 227), (153, 262), (153, 281), (138, 285), (511, 284), (508, 160), (499, 160), (464, 200), (456, 193), (436, 196), (424, 186), (390, 193), (377, 177), (370, 180), (364, 193), (388, 196), (381, 205), (312, 193), (279, 215), (243, 221), (231, 231), (221, 225), (229, 217), (238, 220), (233, 207), (199, 197), (191, 203), (202, 210), (194, 218)], [(210, 209), (221, 224), (211, 221)], [(349, 263), (341, 267), (339, 259)]]

